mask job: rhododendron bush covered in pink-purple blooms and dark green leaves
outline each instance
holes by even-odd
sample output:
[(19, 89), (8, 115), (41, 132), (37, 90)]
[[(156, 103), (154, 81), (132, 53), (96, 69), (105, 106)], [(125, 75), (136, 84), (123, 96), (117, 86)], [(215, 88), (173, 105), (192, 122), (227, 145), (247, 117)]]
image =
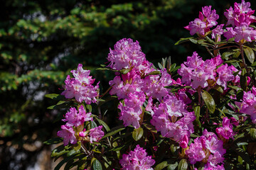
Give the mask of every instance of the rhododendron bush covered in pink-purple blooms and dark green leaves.
[[(218, 14), (204, 6), (181, 38), (206, 48), (181, 66), (163, 59), (159, 68), (146, 60), (139, 42), (119, 40), (107, 65), (115, 75), (107, 91), (82, 64), (68, 75), (49, 108), (68, 108), (52, 157), (70, 169), (255, 169), (256, 168), (256, 22), (242, 0)], [(204, 57), (201, 57), (201, 55)], [(118, 111), (102, 112), (109, 104)], [(111, 128), (110, 128), (111, 127)]]

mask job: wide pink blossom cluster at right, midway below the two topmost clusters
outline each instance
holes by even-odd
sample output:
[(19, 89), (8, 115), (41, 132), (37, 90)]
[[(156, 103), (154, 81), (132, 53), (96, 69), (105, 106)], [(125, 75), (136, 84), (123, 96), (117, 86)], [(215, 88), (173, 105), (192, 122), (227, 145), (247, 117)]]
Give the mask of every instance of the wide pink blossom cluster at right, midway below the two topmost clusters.
[(223, 64), (220, 55), (210, 60), (203, 61), (198, 53), (193, 52), (191, 57), (188, 56), (187, 61), (181, 64), (181, 69), (178, 69), (178, 74), (182, 77), (182, 82), (188, 86), (192, 86), (193, 89), (201, 86), (213, 86), (208, 84), (208, 80), (215, 81), (219, 86), (227, 88), (227, 82), (235, 79), (233, 76), (233, 67), (228, 64), (223, 64), (218, 69), (217, 66)]

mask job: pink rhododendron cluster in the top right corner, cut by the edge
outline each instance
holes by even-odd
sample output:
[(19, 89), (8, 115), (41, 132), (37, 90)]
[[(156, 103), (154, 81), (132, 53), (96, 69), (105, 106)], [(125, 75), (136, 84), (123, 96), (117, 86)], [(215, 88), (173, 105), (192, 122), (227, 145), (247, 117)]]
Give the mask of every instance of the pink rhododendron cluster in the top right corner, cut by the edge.
[(256, 22), (255, 16), (252, 16), (254, 12), (250, 8), (250, 2), (245, 2), (244, 0), (242, 0), (241, 4), (235, 2), (234, 8), (230, 6), (224, 15), (228, 19), (227, 25), (232, 27), (226, 28), (225, 38), (227, 40), (235, 38), (235, 42), (240, 42), (240, 40), (251, 42), (255, 40), (256, 31), (250, 27), (251, 23)]

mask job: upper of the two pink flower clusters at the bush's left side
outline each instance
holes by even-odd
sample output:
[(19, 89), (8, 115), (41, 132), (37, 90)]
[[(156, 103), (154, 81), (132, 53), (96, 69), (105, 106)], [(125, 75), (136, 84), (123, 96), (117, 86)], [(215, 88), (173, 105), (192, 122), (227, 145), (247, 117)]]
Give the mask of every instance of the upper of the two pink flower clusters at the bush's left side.
[(61, 93), (65, 98), (75, 97), (76, 101), (82, 103), (95, 103), (97, 100), (99, 83), (96, 86), (93, 86), (95, 79), (90, 77), (90, 70), (82, 69), (82, 64), (78, 64), (78, 70), (72, 70), (74, 78), (70, 78), (68, 75), (65, 79), (65, 91)]

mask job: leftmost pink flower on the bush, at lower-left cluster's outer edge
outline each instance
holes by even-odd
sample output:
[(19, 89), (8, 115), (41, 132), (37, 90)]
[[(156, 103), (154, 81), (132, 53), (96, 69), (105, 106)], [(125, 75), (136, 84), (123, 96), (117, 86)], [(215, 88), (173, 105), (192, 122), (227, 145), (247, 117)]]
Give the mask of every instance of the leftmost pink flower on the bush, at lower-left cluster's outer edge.
[(78, 141), (75, 137), (75, 131), (72, 127), (69, 127), (67, 125), (62, 125), (61, 130), (57, 132), (58, 137), (63, 138), (64, 146), (68, 145), (70, 142), (71, 144), (76, 144)]

